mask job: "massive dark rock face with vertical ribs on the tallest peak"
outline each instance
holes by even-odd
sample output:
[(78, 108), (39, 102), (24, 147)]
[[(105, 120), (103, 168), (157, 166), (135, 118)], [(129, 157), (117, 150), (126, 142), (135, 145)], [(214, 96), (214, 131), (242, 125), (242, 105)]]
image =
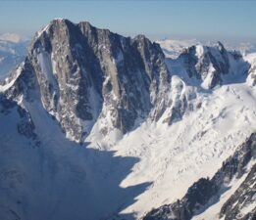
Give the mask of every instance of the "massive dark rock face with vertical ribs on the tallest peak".
[(37, 91), (68, 136), (81, 141), (100, 118), (111, 121), (101, 129), (106, 133), (128, 132), (152, 107), (157, 107), (152, 117), (159, 118), (168, 105), (162, 99), (169, 83), (160, 46), (145, 36), (130, 39), (88, 22), (54, 20), (35, 36), (9, 93), (27, 98)]

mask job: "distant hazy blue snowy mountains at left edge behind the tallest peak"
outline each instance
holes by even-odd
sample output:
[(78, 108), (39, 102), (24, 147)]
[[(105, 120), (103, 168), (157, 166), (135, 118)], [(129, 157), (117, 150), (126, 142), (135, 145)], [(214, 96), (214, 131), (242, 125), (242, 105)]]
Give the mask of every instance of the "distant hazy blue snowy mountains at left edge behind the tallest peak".
[(29, 42), (29, 39), (14, 33), (0, 35), (0, 79), (25, 60)]

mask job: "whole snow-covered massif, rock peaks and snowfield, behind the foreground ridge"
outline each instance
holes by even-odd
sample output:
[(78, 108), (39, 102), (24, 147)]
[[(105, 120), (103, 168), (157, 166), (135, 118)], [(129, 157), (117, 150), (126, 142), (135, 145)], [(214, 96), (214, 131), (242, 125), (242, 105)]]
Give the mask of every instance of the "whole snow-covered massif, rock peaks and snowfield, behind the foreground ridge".
[[(216, 184), (229, 158), (250, 172), (255, 57), (219, 42), (169, 59), (143, 35), (50, 22), (0, 85), (0, 217), (151, 217), (152, 208), (162, 213), (184, 200), (193, 184)], [(251, 166), (236, 156), (242, 143)]]

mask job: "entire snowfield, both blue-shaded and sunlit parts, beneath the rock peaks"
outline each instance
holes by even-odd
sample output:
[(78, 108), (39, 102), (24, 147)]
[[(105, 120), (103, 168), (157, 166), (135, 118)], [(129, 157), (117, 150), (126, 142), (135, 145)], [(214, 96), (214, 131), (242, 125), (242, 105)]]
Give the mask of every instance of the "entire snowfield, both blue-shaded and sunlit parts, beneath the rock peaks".
[[(203, 49), (196, 47), (198, 57), (203, 55)], [(117, 55), (113, 65), (122, 63), (122, 56)], [(15, 85), (20, 78), (18, 71), (16, 77), (0, 86), (0, 94), (9, 95), (16, 102), (11, 106), (4, 100), (0, 102), (0, 214), (5, 219), (138, 219), (153, 207), (182, 198), (199, 178), (212, 177), (256, 130), (256, 87), (240, 71), (243, 66), (230, 63), (235, 74), (225, 76), (222, 85), (208, 88), (198, 78), (188, 77), (178, 59), (163, 62), (172, 78), (170, 85), (163, 79), (170, 90), (162, 88), (159, 106), (166, 104), (166, 109), (158, 120), (152, 120), (152, 112), (145, 120), (138, 117), (136, 126), (124, 136), (118, 128), (108, 135), (100, 134), (98, 120), (85, 143), (77, 144), (66, 138), (72, 134), (66, 133), (65, 137), (58, 118), (51, 115), (52, 109), (47, 111), (43, 106), (40, 93), (45, 90), (32, 85), (39, 82), (38, 75), (43, 76), (56, 92), (52, 55), (41, 53), (34, 59), (40, 69), (33, 75), (35, 82), (25, 77)], [(249, 57), (247, 61), (251, 63)], [(23, 74), (34, 73), (28, 70)], [(137, 85), (141, 84), (139, 78), (136, 80)], [(23, 90), (25, 82), (37, 88), (32, 90), (34, 94), (28, 94), (38, 96), (36, 99), (24, 99), (30, 89)], [(47, 86), (44, 81), (41, 85)], [(70, 90), (67, 91), (69, 95)], [(76, 99), (71, 100), (77, 102)], [(53, 99), (50, 97), (49, 101)], [(24, 118), (19, 108), (29, 116)], [(168, 123), (172, 113), (181, 109), (183, 112), (177, 112), (176, 120)], [(110, 110), (103, 109), (106, 123), (111, 118)], [(67, 117), (74, 119), (72, 113)], [(67, 126), (71, 126), (71, 121)], [(21, 133), (21, 126), (26, 128), (24, 123), (30, 124), (33, 136)]]

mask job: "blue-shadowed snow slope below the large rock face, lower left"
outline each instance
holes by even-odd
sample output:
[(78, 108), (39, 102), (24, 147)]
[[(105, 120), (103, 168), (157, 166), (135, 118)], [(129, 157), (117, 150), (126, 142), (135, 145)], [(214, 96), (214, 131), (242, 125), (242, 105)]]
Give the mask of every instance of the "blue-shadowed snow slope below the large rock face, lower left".
[(19, 132), (21, 110), (1, 99), (1, 219), (105, 219), (145, 191), (147, 183), (119, 186), (137, 158), (70, 142), (40, 103), (21, 98), (20, 105), (29, 110), (36, 137)]

